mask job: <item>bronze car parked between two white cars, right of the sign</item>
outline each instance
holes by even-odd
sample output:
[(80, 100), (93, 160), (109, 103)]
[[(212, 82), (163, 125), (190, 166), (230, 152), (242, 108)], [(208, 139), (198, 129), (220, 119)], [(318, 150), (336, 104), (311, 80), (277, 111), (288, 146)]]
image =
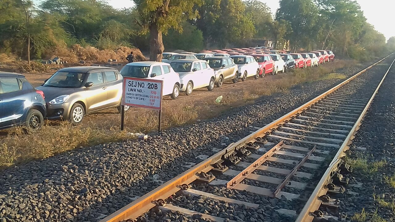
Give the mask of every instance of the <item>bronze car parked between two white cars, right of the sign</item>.
[(232, 80), (233, 83), (239, 81), (239, 70), (231, 58), (214, 56), (204, 60), (214, 70), (217, 87), (221, 87), (224, 81)]

